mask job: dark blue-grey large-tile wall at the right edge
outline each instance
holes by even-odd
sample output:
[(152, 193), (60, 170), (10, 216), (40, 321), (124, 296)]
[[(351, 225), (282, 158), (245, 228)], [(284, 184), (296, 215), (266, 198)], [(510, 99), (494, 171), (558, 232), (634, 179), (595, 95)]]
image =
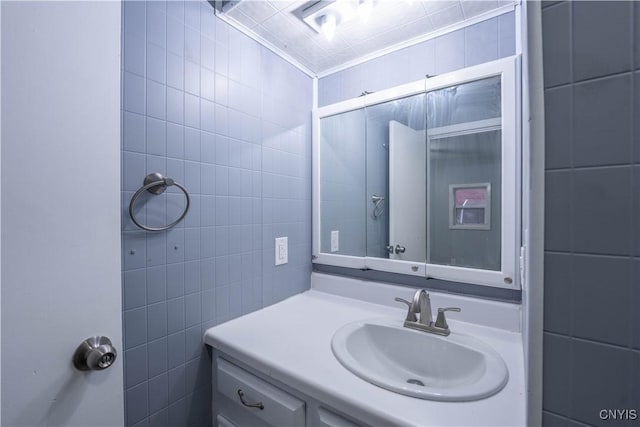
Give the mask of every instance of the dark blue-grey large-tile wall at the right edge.
[(640, 412), (640, 4), (546, 2), (542, 25), (543, 421), (637, 425), (600, 411)]

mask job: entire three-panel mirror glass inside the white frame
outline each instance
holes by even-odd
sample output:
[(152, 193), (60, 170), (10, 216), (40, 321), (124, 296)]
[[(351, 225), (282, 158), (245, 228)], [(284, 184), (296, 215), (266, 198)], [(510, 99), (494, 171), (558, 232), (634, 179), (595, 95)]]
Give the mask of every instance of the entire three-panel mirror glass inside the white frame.
[(500, 76), (320, 119), (321, 252), (501, 269)]

